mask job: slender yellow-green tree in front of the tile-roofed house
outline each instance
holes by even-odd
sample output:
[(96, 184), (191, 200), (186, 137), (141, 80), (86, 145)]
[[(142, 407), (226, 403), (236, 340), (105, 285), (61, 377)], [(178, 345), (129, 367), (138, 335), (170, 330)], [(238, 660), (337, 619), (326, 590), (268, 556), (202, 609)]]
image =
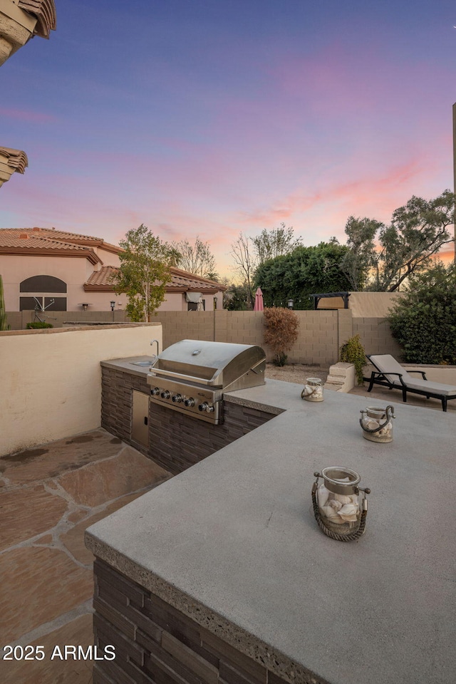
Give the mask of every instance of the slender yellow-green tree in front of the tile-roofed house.
[(114, 291), (127, 295), (125, 310), (131, 321), (148, 322), (165, 299), (166, 284), (171, 280), (170, 245), (144, 224), (129, 230), (119, 244), (124, 252), (119, 254)]

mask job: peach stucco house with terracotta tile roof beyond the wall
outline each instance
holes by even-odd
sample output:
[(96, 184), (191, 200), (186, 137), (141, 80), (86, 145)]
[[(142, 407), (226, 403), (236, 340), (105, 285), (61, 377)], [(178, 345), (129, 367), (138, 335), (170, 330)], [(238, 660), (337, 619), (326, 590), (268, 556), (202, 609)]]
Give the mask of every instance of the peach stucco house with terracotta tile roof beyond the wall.
[[(125, 309), (113, 290), (122, 249), (102, 238), (49, 228), (0, 229), (0, 274), (6, 311), (29, 311), (36, 301), (48, 311)], [(222, 309), (224, 286), (171, 268), (159, 311)], [(198, 304), (199, 302), (199, 304)]]

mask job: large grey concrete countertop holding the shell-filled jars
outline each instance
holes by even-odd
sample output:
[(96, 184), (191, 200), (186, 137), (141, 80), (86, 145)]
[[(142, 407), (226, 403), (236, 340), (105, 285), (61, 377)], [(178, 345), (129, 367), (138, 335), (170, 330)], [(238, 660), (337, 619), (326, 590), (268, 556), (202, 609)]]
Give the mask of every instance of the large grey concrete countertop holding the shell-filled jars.
[[(89, 548), (289, 682), (454, 683), (454, 417), (392, 394), (394, 441), (377, 444), (361, 398), (300, 393), (225, 395), (282, 413), (90, 527)], [(331, 465), (371, 488), (357, 542), (314, 519), (314, 471)]]

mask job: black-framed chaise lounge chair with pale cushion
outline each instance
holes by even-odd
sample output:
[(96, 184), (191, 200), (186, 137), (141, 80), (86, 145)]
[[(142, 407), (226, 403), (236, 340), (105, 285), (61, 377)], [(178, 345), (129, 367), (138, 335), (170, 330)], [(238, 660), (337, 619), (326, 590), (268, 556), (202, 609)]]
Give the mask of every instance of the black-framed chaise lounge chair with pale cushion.
[[(373, 385), (383, 385), (390, 390), (402, 390), (403, 401), (407, 401), (407, 393), (423, 394), (427, 399), (440, 399), (442, 410), (447, 410), (447, 400), (456, 399), (456, 385), (443, 385), (427, 380), (423, 371), (406, 371), (390, 354), (366, 354), (377, 371), (372, 371), (368, 392)], [(420, 373), (423, 379), (413, 378), (410, 373)]]

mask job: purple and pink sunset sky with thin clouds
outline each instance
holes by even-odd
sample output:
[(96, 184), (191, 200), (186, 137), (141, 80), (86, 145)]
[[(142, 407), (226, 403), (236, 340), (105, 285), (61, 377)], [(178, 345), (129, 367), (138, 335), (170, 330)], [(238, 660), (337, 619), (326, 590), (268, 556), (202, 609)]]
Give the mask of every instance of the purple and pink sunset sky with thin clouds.
[[(345, 242), (452, 190), (454, 0), (56, 0), (0, 68), (0, 227)], [(452, 247), (451, 247), (452, 250)]]

